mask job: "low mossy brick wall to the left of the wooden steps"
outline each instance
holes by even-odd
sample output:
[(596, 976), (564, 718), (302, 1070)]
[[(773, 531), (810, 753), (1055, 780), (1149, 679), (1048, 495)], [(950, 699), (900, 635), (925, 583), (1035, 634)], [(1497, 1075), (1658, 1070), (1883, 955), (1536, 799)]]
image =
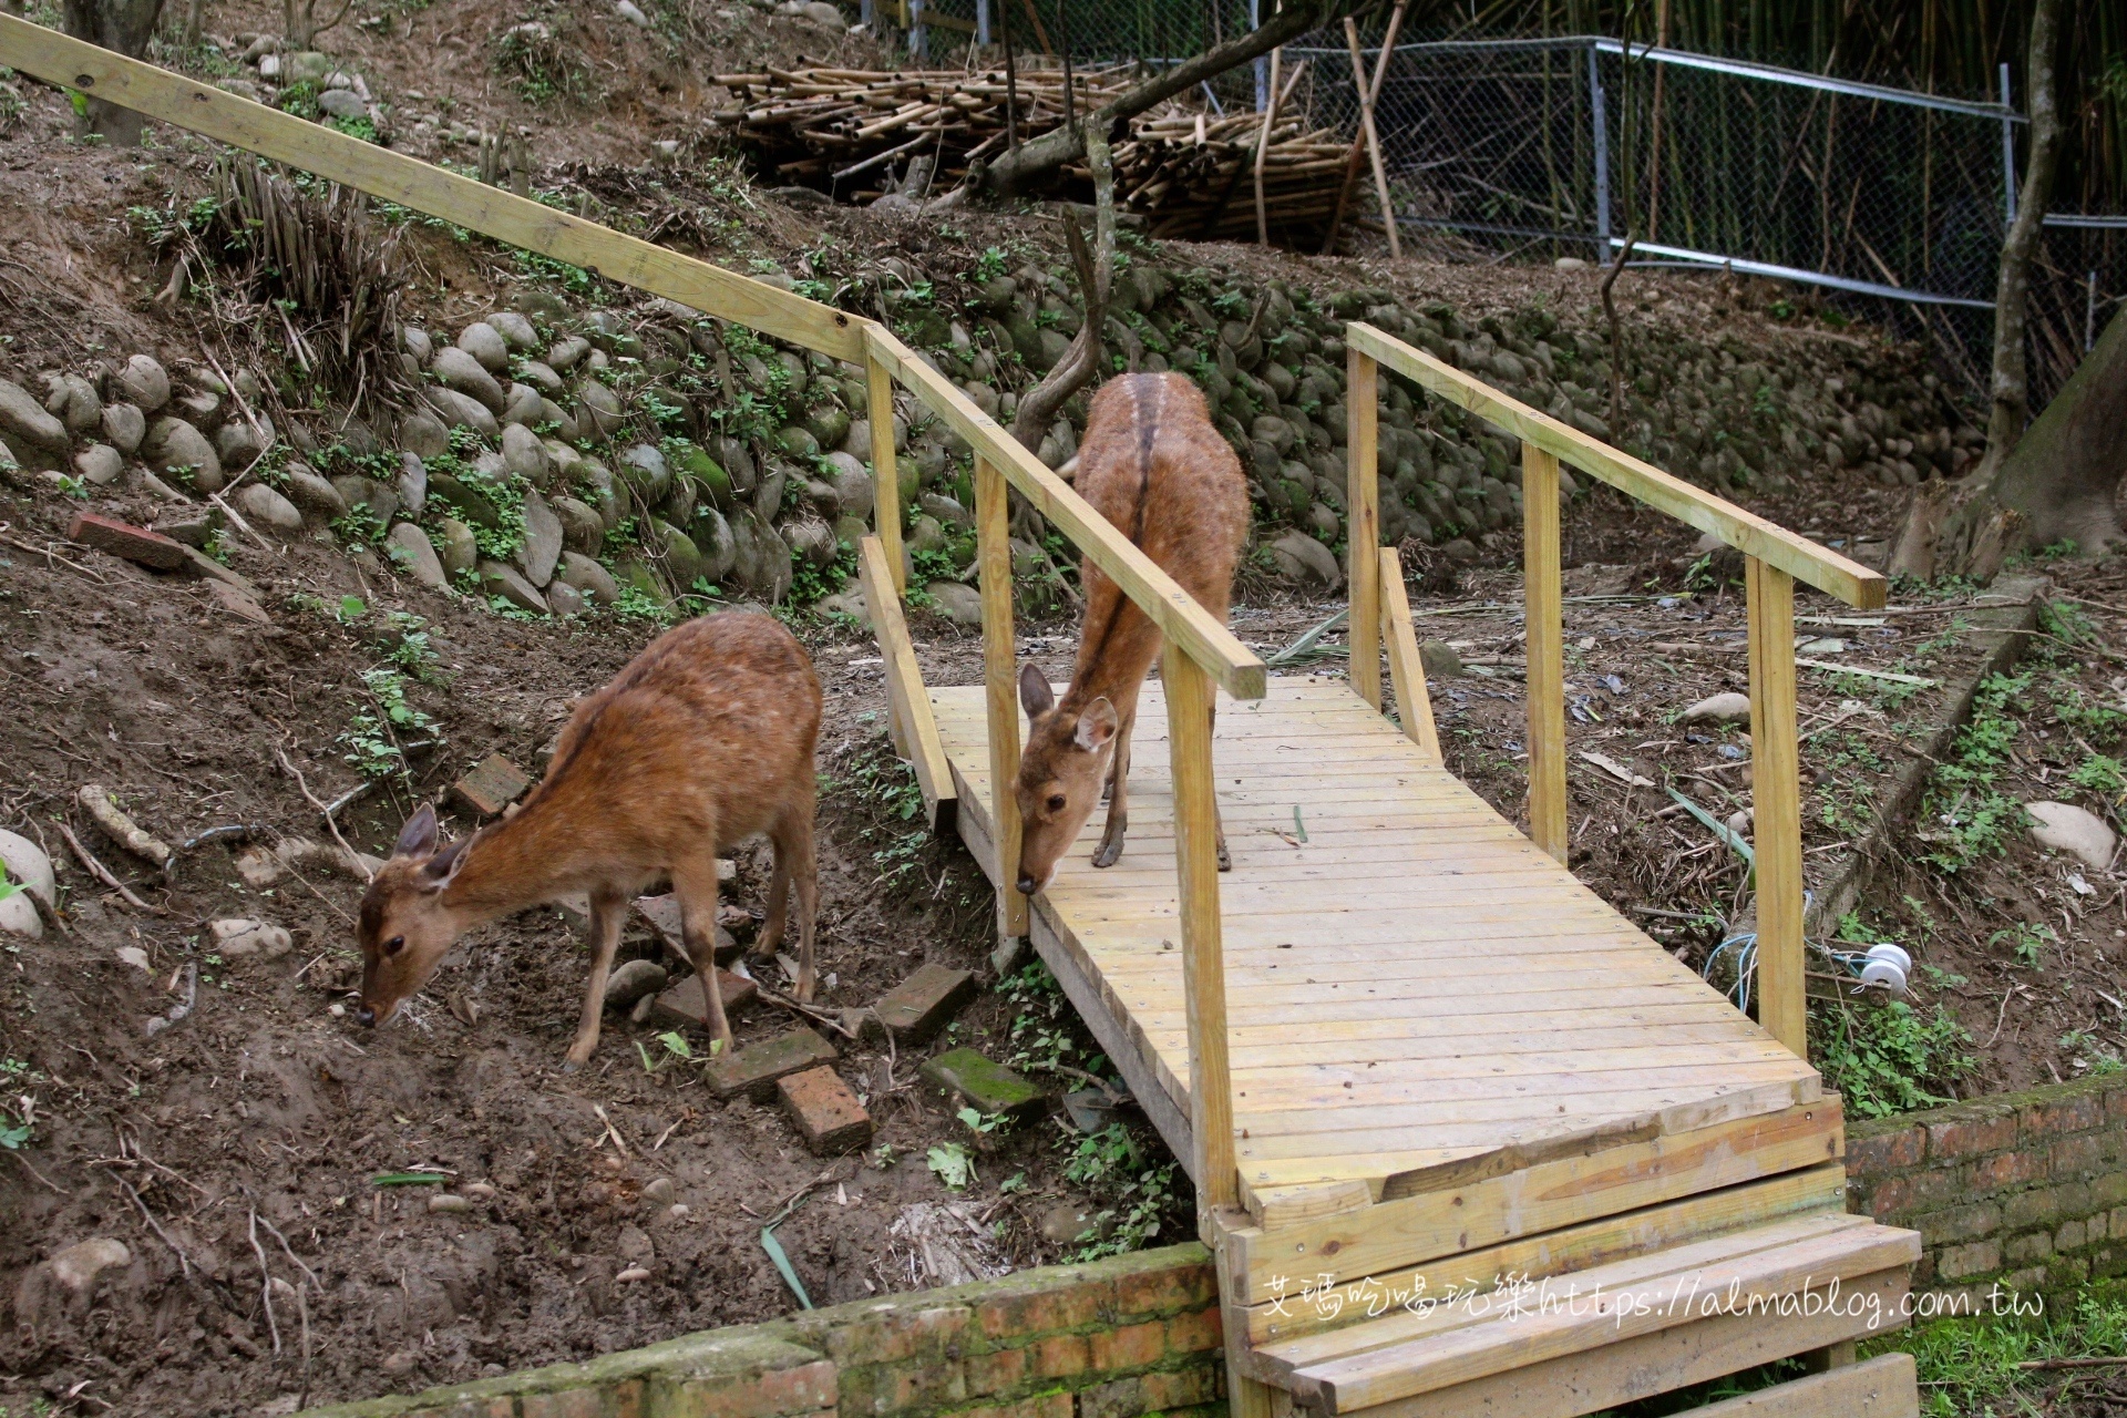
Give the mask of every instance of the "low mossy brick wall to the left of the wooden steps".
[(1212, 1418), (1202, 1246), (915, 1290), (308, 1418)]

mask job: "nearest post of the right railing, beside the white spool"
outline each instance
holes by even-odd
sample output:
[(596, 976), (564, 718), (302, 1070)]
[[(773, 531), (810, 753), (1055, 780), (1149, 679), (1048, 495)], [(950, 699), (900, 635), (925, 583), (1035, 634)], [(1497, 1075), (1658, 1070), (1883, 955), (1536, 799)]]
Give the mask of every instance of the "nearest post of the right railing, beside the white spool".
[(1795, 744), (1795, 580), (1744, 559), (1751, 597), (1751, 835), (1757, 853), (1757, 1018), (1810, 1057), (1802, 961), (1802, 755)]

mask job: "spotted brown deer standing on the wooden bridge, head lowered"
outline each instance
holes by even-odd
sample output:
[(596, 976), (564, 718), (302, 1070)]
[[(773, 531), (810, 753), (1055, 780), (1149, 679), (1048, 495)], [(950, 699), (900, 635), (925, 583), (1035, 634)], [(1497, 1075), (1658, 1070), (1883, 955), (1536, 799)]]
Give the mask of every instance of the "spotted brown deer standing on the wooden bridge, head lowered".
[[(1180, 374), (1125, 374), (1093, 395), (1078, 444), (1078, 495), (1159, 563), (1200, 606), (1225, 621), (1234, 565), (1249, 536), (1249, 485), (1210, 408)], [(1034, 895), (1093, 816), (1108, 787), (1108, 827), (1095, 867), (1115, 865), (1129, 827), (1129, 731), (1138, 689), (1159, 659), (1159, 627), (1093, 565), (1081, 570), (1085, 627), (1070, 689), (1057, 702), (1049, 676), (1019, 672), (1019, 704), (1032, 719), (1012, 787), (1025, 829), (1019, 891)], [(1232, 867), (1225, 831), (1219, 870)]]

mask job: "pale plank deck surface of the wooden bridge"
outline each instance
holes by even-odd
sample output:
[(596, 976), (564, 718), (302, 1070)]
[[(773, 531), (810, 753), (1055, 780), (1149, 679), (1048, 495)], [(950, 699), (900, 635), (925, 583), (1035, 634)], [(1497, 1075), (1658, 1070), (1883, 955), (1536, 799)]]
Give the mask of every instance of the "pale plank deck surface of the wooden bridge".
[[(981, 687), (929, 689), (959, 829), (989, 850)], [(1191, 1159), (1166, 708), (1140, 702), (1129, 842), (1093, 814), (1034, 942)], [(1546, 1140), (1663, 1135), (1821, 1099), (1816, 1071), (1634, 929), (1349, 685), (1219, 706), (1236, 1154), (1251, 1210), (1366, 1182), (1455, 1184)], [(1823, 1110), (1836, 1129), (1836, 1105)]]

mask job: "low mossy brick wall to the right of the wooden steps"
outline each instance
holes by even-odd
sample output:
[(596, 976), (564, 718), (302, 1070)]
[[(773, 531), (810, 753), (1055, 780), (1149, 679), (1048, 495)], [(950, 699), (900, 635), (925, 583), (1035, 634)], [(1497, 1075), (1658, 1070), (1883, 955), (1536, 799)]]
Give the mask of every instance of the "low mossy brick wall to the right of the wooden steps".
[(1846, 1125), (1848, 1210), (1912, 1227), (1914, 1290), (2127, 1273), (2127, 1076)]

